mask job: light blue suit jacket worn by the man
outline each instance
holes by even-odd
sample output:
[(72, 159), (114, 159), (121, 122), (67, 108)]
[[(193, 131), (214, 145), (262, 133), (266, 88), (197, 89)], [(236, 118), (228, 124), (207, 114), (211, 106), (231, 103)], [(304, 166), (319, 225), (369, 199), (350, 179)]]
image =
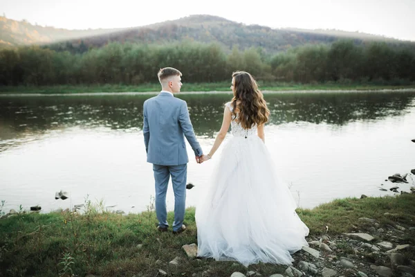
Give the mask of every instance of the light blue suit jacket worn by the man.
[(185, 137), (194, 155), (203, 155), (184, 100), (161, 91), (158, 96), (145, 100), (143, 114), (142, 133), (147, 162), (160, 166), (188, 163)]

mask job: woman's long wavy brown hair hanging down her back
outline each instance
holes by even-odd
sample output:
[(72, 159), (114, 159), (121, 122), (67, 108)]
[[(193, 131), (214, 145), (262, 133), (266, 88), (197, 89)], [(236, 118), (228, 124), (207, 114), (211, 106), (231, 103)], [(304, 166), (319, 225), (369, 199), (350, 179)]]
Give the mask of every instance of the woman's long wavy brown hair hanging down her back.
[(257, 125), (266, 123), (270, 110), (266, 107), (264, 95), (259, 91), (252, 75), (245, 71), (236, 71), (232, 73), (232, 78), (234, 78), (232, 117), (236, 118), (235, 120), (241, 123), (244, 129), (250, 129), (255, 123)]

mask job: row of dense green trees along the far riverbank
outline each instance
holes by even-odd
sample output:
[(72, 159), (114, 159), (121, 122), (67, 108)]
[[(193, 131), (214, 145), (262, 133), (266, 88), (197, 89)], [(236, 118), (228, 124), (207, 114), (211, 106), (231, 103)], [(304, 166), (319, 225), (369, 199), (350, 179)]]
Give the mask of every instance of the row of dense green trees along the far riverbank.
[(415, 50), (384, 42), (306, 45), (271, 55), (264, 48), (225, 52), (219, 44), (121, 44), (111, 42), (84, 53), (28, 46), (0, 51), (1, 85), (142, 84), (173, 66), (183, 82), (222, 82), (233, 71), (279, 82), (412, 82)]

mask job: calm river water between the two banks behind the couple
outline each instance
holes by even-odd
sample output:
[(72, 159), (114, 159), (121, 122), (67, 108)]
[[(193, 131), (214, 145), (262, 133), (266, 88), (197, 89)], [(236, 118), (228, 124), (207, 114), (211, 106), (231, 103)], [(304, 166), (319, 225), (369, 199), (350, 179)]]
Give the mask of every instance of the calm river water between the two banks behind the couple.
[[(151, 96), (0, 96), (0, 200), (6, 200), (6, 210), (39, 204), (47, 212), (83, 204), (86, 197), (103, 199), (114, 211), (146, 210), (154, 181), (146, 163), (142, 103)], [(178, 97), (187, 101), (208, 152), (231, 95)], [(380, 184), (390, 188), (389, 175), (415, 168), (415, 91), (266, 93), (265, 98), (271, 111), (266, 145), (275, 171), (303, 208), (361, 194), (391, 195), (380, 191)], [(187, 181), (195, 185), (187, 206), (194, 206), (221, 148), (202, 165), (190, 145), (187, 150), (192, 158)], [(59, 190), (70, 198), (55, 200)], [(167, 205), (174, 208), (171, 186)]]

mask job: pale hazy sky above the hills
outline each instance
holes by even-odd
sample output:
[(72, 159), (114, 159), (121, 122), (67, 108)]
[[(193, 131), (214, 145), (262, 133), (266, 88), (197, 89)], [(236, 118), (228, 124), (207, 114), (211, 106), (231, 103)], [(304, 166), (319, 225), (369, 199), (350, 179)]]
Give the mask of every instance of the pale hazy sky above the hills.
[(0, 0), (10, 19), (57, 28), (120, 28), (217, 15), (272, 28), (329, 28), (415, 41), (415, 0)]

